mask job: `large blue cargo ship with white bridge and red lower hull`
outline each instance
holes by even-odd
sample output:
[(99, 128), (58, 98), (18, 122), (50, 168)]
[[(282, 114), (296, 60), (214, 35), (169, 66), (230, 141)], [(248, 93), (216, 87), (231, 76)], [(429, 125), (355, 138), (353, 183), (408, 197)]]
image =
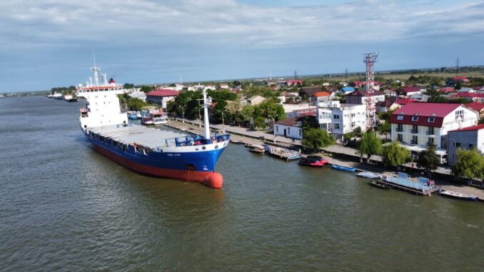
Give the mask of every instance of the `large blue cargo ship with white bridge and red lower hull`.
[(76, 95), (87, 101), (79, 122), (96, 151), (139, 173), (222, 188), (223, 177), (215, 168), (230, 135), (211, 135), (208, 124), (211, 101), (206, 91), (203, 91), (205, 135), (164, 131), (128, 124), (128, 116), (121, 111), (118, 98), (123, 94), (123, 86), (114, 79), (108, 81), (96, 65), (92, 71), (94, 78), (79, 84)]

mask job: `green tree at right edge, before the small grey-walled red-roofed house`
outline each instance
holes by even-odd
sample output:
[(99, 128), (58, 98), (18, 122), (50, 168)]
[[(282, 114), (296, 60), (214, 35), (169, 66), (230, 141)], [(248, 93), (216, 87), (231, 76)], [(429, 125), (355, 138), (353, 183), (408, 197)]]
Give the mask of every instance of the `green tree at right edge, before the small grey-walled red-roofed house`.
[(484, 157), (475, 148), (457, 151), (457, 163), (452, 166), (452, 173), (461, 178), (484, 178)]

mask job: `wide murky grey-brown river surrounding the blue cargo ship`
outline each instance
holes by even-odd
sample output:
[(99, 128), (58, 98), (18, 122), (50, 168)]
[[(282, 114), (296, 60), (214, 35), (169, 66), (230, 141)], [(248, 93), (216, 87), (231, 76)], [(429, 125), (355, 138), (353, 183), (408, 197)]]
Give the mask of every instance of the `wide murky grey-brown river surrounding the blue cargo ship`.
[(81, 103), (0, 99), (0, 271), (482, 271), (484, 205), (231, 144), (222, 190), (96, 153)]

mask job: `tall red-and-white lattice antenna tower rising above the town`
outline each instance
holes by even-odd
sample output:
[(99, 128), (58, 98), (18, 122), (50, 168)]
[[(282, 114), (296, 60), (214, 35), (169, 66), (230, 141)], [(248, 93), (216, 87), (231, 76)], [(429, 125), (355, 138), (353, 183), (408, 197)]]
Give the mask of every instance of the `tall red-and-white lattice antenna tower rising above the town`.
[(376, 62), (376, 53), (363, 54), (363, 62), (366, 64), (366, 129), (376, 126), (377, 116), (375, 113), (375, 71), (373, 66)]

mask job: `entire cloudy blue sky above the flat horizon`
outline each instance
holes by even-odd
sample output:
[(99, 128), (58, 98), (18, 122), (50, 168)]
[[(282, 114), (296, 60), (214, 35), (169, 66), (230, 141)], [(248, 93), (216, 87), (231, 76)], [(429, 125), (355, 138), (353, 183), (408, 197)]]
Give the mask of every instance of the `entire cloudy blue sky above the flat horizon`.
[(0, 92), (484, 64), (473, 0), (0, 1)]

